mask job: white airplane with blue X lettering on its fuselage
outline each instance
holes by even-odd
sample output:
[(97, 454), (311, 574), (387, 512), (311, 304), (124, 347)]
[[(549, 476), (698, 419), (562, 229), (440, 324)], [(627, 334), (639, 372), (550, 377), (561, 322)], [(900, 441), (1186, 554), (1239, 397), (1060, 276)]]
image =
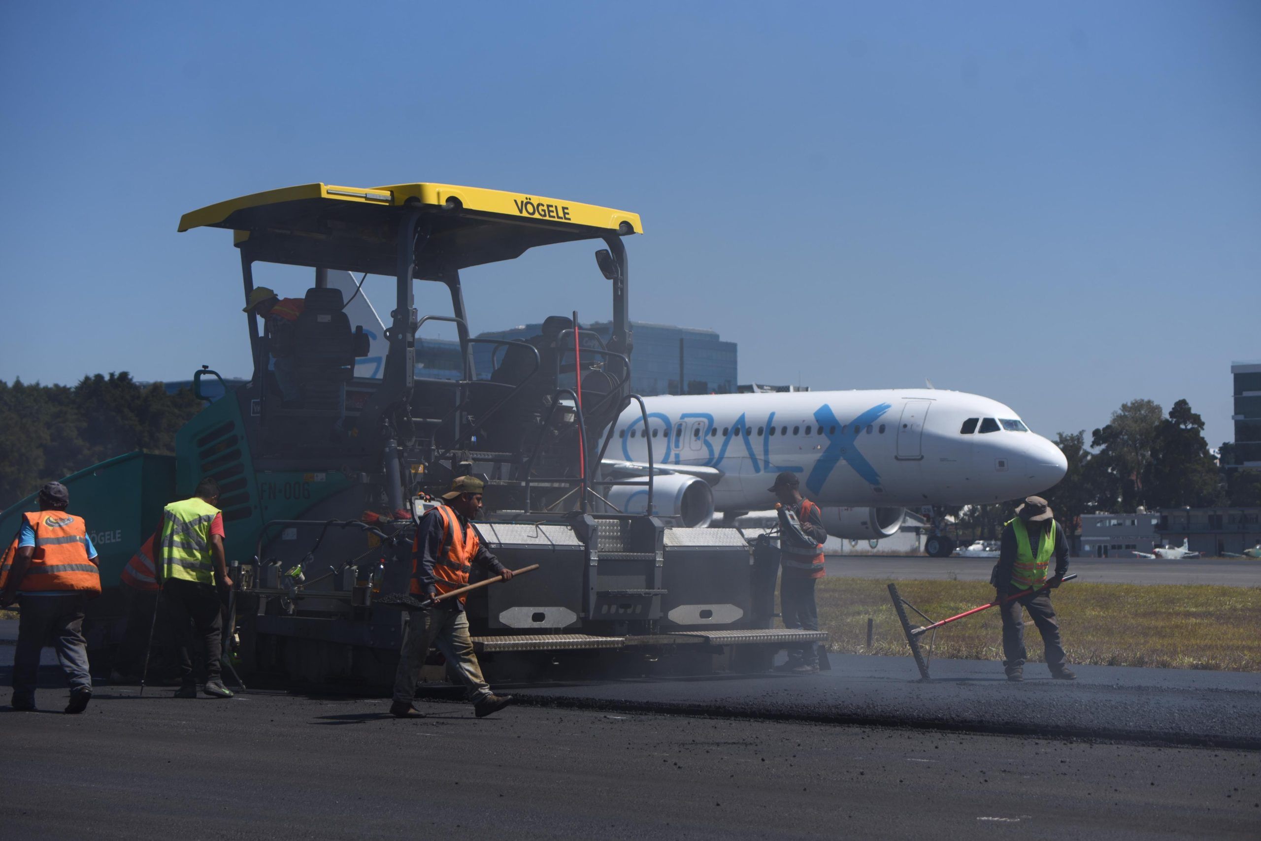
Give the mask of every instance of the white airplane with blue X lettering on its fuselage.
[[(601, 468), (647, 474), (653, 509), (689, 526), (715, 512), (764, 509), (774, 475), (796, 473), (830, 535), (879, 540), (908, 507), (1002, 502), (1039, 493), (1068, 469), (1052, 441), (1002, 403), (937, 388), (646, 397), (617, 420)], [(642, 512), (643, 484), (613, 485), (618, 509)]]

